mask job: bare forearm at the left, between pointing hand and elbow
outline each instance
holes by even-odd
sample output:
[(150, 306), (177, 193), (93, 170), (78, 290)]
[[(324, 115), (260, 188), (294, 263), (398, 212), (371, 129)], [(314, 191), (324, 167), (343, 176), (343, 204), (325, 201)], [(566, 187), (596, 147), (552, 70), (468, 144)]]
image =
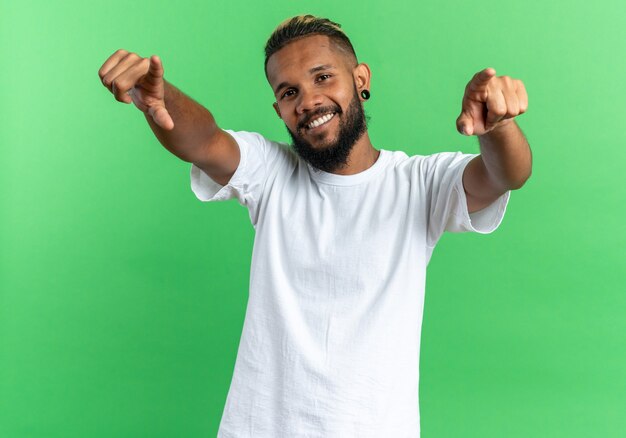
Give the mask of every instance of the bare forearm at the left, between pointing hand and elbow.
[(174, 129), (161, 128), (149, 114), (145, 114), (146, 120), (168, 151), (184, 161), (194, 162), (219, 128), (213, 115), (202, 105), (167, 81), (164, 87), (165, 108), (174, 121)]

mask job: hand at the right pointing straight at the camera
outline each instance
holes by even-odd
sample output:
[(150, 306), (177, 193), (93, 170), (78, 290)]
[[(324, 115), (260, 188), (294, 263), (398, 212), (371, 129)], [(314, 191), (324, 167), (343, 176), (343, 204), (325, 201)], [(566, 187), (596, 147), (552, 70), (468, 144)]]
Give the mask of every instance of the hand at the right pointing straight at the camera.
[(493, 68), (474, 75), (465, 87), (457, 130), (464, 135), (483, 135), (526, 112), (528, 95), (519, 79), (497, 76)]

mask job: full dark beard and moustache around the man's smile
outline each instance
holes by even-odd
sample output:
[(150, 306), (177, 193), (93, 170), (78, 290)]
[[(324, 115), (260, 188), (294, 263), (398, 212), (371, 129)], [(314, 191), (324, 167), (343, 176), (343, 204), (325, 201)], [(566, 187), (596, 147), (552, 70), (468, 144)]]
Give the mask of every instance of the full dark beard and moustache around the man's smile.
[[(315, 117), (328, 112), (335, 112), (334, 117), (339, 117), (337, 138), (335, 141), (328, 142), (325, 146), (313, 147), (299, 133), (306, 130), (305, 125)], [(287, 125), (285, 126), (287, 127)], [(305, 123), (301, 123), (296, 130), (297, 132), (293, 133), (287, 127), (287, 131), (293, 141), (293, 148), (304, 161), (325, 172), (333, 172), (347, 166), (350, 151), (367, 130), (365, 111), (359, 100), (356, 87), (354, 88), (352, 101), (345, 114), (339, 106), (319, 108), (307, 118)]]

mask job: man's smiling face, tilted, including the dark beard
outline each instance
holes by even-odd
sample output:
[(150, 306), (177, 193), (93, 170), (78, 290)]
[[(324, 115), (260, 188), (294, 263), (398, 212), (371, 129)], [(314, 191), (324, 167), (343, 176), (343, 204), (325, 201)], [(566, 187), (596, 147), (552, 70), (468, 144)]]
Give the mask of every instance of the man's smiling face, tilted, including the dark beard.
[(326, 36), (305, 37), (283, 47), (267, 63), (274, 108), (294, 149), (327, 172), (347, 164), (354, 144), (366, 131), (356, 83), (363, 83), (363, 75), (357, 73), (363, 67), (355, 69), (350, 58), (331, 44)]

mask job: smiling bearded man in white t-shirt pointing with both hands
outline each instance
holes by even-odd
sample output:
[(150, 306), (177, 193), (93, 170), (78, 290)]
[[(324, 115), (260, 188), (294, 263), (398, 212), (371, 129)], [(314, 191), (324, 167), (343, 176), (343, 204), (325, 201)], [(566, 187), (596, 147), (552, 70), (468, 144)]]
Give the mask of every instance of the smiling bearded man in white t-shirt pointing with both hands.
[[(192, 163), (202, 201), (236, 198), (256, 230), (250, 292), (221, 437), (418, 437), (426, 267), (444, 231), (491, 233), (531, 173), (513, 118), (523, 84), (493, 69), (465, 89), (457, 128), (481, 154), (375, 149), (370, 70), (340, 26), (286, 20), (266, 45), (293, 148), (220, 129), (163, 79), (158, 57), (99, 71), (159, 141)], [(127, 93), (128, 92), (128, 93)]]

